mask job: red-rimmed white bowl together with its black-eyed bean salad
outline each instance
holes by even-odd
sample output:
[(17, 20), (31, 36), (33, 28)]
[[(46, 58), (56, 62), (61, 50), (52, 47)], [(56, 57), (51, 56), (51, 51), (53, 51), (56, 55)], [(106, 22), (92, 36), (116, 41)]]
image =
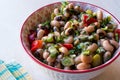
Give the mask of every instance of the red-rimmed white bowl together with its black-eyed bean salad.
[(33, 12), (21, 43), (41, 71), (54, 80), (89, 80), (120, 54), (120, 22), (93, 4), (56, 2)]

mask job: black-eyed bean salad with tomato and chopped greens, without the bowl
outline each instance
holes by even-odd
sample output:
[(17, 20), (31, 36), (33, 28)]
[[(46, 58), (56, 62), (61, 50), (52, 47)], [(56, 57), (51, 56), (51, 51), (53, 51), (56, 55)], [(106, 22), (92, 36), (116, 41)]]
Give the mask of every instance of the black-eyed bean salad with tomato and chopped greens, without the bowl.
[(118, 49), (117, 25), (111, 16), (70, 2), (55, 8), (51, 19), (28, 35), (30, 50), (41, 62), (64, 70), (84, 70), (110, 60)]

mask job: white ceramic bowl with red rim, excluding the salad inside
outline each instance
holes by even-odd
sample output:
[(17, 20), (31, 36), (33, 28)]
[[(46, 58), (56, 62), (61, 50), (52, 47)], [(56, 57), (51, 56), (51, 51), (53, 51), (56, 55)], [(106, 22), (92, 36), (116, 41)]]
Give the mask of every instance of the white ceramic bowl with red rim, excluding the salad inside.
[[(96, 5), (85, 3), (85, 2), (79, 2), (79, 1), (71, 1), (74, 4), (80, 5), (83, 9), (92, 9), (93, 11), (102, 10), (104, 13), (104, 16), (111, 15), (113, 18), (113, 21), (118, 24), (118, 28), (120, 28), (120, 22), (118, 19), (113, 16), (110, 12), (107, 10), (100, 8)], [(115, 52), (114, 56), (106, 63), (87, 70), (61, 70), (57, 69), (51, 66), (48, 66), (38, 59), (36, 59), (31, 51), (30, 51), (30, 45), (28, 41), (28, 34), (29, 31), (35, 26), (35, 24), (38, 24), (40, 22), (44, 22), (47, 19), (50, 18), (50, 14), (53, 11), (54, 8), (60, 7), (61, 3), (53, 3), (49, 4), (47, 6), (44, 6), (37, 11), (33, 12), (24, 22), (22, 29), (21, 29), (21, 43), (23, 45), (23, 48), (27, 52), (27, 54), (39, 65), (40, 70), (45, 74), (48, 75), (51, 80), (89, 80), (100, 73), (102, 73), (111, 63), (113, 63), (117, 57), (120, 54), (120, 47)], [(120, 44), (120, 41), (119, 41)]]

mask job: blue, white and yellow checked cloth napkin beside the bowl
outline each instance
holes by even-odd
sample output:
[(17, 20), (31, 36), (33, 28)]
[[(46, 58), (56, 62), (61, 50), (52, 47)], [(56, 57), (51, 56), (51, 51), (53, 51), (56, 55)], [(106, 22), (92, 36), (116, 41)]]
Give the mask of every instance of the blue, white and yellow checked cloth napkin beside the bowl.
[(0, 60), (0, 80), (32, 80), (27, 71), (17, 62), (5, 64)]

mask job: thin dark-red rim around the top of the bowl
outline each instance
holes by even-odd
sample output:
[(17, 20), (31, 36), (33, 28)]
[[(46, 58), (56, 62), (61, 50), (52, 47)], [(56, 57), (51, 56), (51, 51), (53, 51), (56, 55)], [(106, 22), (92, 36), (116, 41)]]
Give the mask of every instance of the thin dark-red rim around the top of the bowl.
[[(91, 3), (87, 3), (87, 2), (81, 2), (81, 1), (68, 1), (68, 2), (74, 2), (74, 3), (82, 3), (82, 4), (88, 4), (88, 5), (91, 5), (91, 6), (94, 6), (94, 7), (97, 7), (105, 12), (107, 12), (108, 14), (110, 14), (117, 22), (118, 24), (120, 24), (120, 21), (113, 15), (111, 14), (110, 12), (108, 12), (107, 10), (97, 6), (97, 5), (94, 5), (94, 4), (91, 4)], [(21, 43), (22, 43), (22, 46), (24, 48), (24, 50), (27, 52), (27, 54), (36, 62), (38, 63), (39, 65), (41, 65), (42, 67), (44, 68), (47, 68), (47, 69), (50, 69), (50, 70), (53, 70), (53, 71), (57, 71), (57, 72), (62, 72), (62, 73), (88, 73), (88, 72), (93, 72), (93, 71), (97, 71), (97, 70), (100, 70), (100, 69), (103, 69), (105, 67), (107, 67), (108, 65), (110, 65), (113, 61), (115, 61), (118, 56), (120, 55), (120, 48), (118, 49), (118, 53), (116, 53), (116, 55), (114, 55), (109, 61), (107, 61), (106, 63), (100, 65), (100, 66), (97, 66), (97, 67), (94, 67), (94, 68), (90, 68), (90, 69), (86, 69), (86, 70), (63, 70), (63, 69), (58, 69), (58, 68), (55, 68), (55, 67), (52, 67), (52, 66), (49, 66), (47, 64), (44, 64), (43, 62), (39, 61), (37, 58), (35, 58), (31, 52), (26, 48), (26, 46), (24, 45), (24, 42), (23, 42), (23, 38), (22, 38), (22, 32), (23, 32), (23, 27), (25, 25), (25, 23), (27, 22), (27, 20), (29, 19), (29, 17), (31, 17), (35, 12), (41, 10), (42, 8), (44, 7), (47, 7), (47, 6), (50, 6), (50, 5), (53, 5), (53, 4), (60, 4), (61, 2), (54, 2), (54, 3), (51, 3), (51, 4), (48, 4), (48, 5), (45, 5), (39, 9), (37, 9), (36, 11), (34, 11), (31, 15), (29, 15), (27, 17), (27, 19), (25, 20), (25, 22), (23, 23), (22, 25), (22, 28), (21, 28), (21, 32), (20, 32), (20, 39), (21, 39)]]

